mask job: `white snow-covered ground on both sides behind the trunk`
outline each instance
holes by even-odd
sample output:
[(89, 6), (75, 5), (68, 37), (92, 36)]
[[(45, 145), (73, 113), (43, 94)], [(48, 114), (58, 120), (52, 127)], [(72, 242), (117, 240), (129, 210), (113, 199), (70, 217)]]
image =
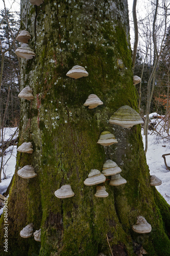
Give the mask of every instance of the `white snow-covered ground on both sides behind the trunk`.
[[(153, 118), (156, 113), (150, 114), (150, 118)], [(158, 115), (159, 116), (159, 115)], [(152, 119), (151, 122), (158, 123), (161, 119)], [(163, 124), (163, 120), (161, 123)], [(160, 131), (161, 125), (157, 126), (157, 131)], [(16, 127), (14, 128), (6, 128), (5, 129), (5, 138), (4, 141), (8, 140), (12, 134), (16, 131)], [(145, 136), (143, 135), (142, 130), (142, 138), (143, 144), (145, 145)], [(162, 139), (162, 137), (166, 137), (168, 134), (161, 131), (161, 135), (155, 135), (152, 131), (149, 131), (148, 134), (148, 151), (147, 151), (147, 163), (150, 168), (150, 174), (156, 175), (161, 181), (162, 184), (160, 186), (156, 186), (159, 193), (164, 197), (166, 202), (170, 205), (170, 171), (166, 169), (164, 164), (164, 160), (162, 158), (163, 154), (170, 153), (170, 138), (169, 141), (166, 139)], [(0, 194), (5, 193), (10, 184), (12, 176), (15, 172), (15, 164), (16, 164), (16, 146), (10, 146), (8, 148), (8, 152), (4, 157), (4, 172), (2, 174), (2, 182), (0, 183)], [(1, 159), (0, 159), (1, 162)], [(170, 166), (170, 155), (166, 157), (166, 163)], [(3, 208), (0, 209), (0, 215), (3, 212)]]

